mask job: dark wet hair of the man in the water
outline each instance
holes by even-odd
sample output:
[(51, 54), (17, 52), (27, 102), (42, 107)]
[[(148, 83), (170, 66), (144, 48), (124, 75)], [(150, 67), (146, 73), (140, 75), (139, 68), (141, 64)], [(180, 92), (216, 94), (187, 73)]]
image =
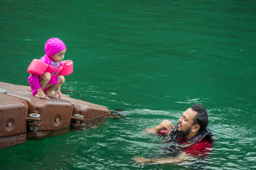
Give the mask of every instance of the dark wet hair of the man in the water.
[(200, 125), (200, 129), (198, 132), (202, 132), (209, 124), (207, 111), (201, 104), (194, 104), (191, 106), (191, 109), (197, 112), (197, 114), (193, 118), (194, 125)]

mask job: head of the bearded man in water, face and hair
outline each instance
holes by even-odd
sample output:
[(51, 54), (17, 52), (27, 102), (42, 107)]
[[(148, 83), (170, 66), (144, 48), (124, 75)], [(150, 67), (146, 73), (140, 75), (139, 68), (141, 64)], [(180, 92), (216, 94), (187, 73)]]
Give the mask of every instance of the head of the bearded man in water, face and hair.
[(177, 136), (179, 138), (193, 138), (208, 125), (207, 111), (200, 104), (192, 105), (191, 108), (182, 113), (179, 119)]

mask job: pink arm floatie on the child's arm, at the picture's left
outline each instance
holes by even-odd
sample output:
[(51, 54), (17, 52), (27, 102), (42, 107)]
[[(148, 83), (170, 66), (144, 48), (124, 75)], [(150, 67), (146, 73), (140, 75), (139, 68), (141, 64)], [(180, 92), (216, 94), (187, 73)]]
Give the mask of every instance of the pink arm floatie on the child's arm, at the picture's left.
[(45, 64), (42, 60), (33, 59), (30, 65), (28, 66), (28, 73), (35, 74), (37, 76), (42, 76), (45, 70), (47, 69), (48, 64)]

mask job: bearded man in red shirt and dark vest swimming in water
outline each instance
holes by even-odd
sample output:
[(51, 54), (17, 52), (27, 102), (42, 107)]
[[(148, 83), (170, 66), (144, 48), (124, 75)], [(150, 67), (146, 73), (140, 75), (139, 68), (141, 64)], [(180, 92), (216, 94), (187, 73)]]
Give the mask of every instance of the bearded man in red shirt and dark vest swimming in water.
[(163, 120), (156, 127), (144, 130), (147, 134), (166, 136), (165, 143), (174, 143), (176, 146), (181, 146), (183, 150), (178, 157), (153, 160), (134, 157), (134, 160), (139, 164), (179, 164), (184, 160), (191, 159), (191, 157), (209, 155), (216, 138), (209, 131), (207, 125), (208, 116), (204, 106), (200, 104), (192, 105), (182, 113), (179, 124), (174, 126), (169, 120)]

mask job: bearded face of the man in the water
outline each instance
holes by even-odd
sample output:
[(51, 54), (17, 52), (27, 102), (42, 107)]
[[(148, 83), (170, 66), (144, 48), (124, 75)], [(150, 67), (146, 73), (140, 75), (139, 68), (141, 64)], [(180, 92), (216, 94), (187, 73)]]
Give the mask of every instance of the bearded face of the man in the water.
[(196, 111), (193, 111), (191, 108), (182, 113), (182, 117), (179, 119), (179, 125), (177, 128), (177, 135), (179, 138), (186, 138), (186, 136), (191, 131), (194, 120), (193, 118), (197, 114)]

